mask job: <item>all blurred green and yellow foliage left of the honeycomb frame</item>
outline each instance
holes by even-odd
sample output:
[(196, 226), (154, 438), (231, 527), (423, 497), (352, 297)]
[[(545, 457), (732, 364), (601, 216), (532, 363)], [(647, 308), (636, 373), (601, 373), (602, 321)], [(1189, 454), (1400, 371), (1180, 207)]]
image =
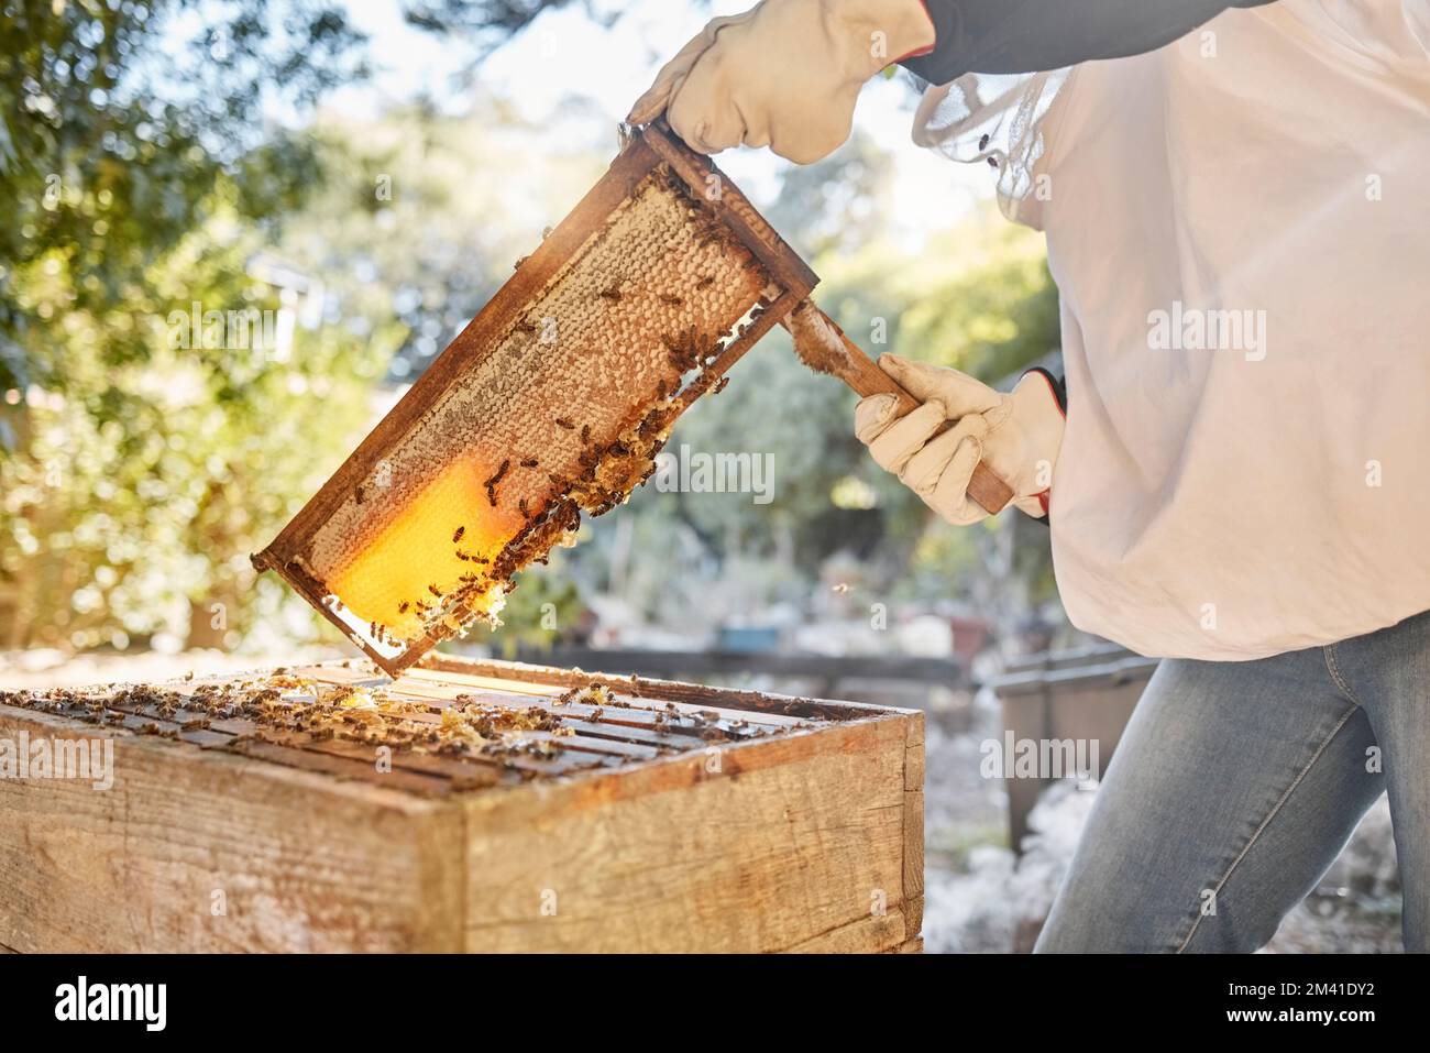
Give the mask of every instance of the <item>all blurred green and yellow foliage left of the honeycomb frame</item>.
[(277, 356), (173, 319), (280, 306), (250, 263), (322, 172), (266, 114), (360, 77), (360, 37), (309, 0), (3, 14), (0, 645), (233, 642), (276, 612), (247, 554), (349, 448), (393, 339)]

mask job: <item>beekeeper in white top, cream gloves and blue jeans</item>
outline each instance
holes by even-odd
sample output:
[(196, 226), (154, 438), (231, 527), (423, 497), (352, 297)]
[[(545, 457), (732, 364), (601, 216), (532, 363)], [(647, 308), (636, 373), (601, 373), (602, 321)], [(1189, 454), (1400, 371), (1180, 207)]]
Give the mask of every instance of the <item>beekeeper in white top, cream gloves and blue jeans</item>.
[(1050, 512), (1072, 624), (1165, 658), (1041, 950), (1260, 947), (1387, 790), (1430, 950), (1427, 47), (1430, 0), (765, 0), (631, 114), (808, 163), (898, 62), (1047, 235), (1065, 405), (884, 355), (922, 406), (855, 411), (950, 522), (980, 459)]

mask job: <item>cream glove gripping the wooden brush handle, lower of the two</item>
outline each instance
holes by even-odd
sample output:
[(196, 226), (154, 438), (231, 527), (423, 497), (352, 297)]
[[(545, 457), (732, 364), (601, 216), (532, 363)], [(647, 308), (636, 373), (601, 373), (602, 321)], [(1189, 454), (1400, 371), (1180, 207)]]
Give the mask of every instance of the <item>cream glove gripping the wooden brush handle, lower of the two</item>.
[[(1028, 373), (1002, 395), (967, 373), (895, 355), (879, 366), (922, 402), (895, 416), (894, 395), (871, 395), (854, 411), (854, 434), (885, 471), (948, 522), (988, 515), (968, 498), (968, 479), (982, 461), (1012, 488), (1012, 502), (1032, 516), (1047, 514), (1052, 465), (1062, 444), (1062, 409), (1042, 373)], [(945, 421), (957, 421), (937, 435)]]

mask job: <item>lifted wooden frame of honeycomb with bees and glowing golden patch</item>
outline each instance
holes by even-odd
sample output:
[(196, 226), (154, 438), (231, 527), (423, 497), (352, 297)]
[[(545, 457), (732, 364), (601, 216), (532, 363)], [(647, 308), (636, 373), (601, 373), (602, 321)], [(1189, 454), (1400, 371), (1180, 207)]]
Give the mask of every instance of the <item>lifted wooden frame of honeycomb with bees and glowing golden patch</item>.
[(255, 564), (410, 665), (623, 501), (815, 280), (708, 159), (636, 133)]

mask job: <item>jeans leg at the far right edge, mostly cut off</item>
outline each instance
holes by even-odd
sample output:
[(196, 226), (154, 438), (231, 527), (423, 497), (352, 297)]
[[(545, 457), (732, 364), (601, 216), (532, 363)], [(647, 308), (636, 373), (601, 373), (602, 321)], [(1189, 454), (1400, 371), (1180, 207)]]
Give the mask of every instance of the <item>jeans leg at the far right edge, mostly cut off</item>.
[(1407, 951), (1430, 951), (1430, 612), (1326, 648), (1380, 744)]

